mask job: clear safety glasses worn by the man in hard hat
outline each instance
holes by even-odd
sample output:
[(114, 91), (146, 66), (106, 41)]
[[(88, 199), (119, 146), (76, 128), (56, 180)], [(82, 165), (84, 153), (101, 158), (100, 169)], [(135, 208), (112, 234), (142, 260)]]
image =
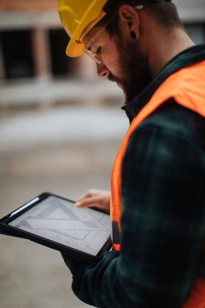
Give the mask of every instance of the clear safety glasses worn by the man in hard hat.
[[(136, 10), (142, 10), (144, 9), (143, 5), (139, 5), (135, 7)], [(101, 29), (99, 29), (99, 31), (97, 31), (97, 33), (95, 33), (95, 35), (90, 39), (90, 41), (86, 44), (86, 46), (82, 49), (82, 51), (84, 53), (86, 53), (90, 58), (92, 58), (92, 60), (94, 60), (96, 63), (101, 64), (102, 61), (99, 57), (99, 55), (95, 54), (93, 51), (91, 51), (90, 47), (91, 45), (94, 43), (94, 41), (96, 40), (96, 38), (106, 29), (106, 27), (112, 22), (112, 20), (118, 15), (115, 14), (107, 23), (104, 27), (102, 27)]]

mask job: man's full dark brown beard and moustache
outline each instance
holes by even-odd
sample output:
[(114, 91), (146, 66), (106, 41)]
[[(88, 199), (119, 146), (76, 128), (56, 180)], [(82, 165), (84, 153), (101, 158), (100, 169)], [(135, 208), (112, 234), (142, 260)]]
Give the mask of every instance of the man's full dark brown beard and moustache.
[(132, 101), (151, 82), (148, 57), (143, 53), (138, 40), (132, 44), (116, 40), (120, 76), (109, 73), (108, 79), (120, 84), (125, 105)]

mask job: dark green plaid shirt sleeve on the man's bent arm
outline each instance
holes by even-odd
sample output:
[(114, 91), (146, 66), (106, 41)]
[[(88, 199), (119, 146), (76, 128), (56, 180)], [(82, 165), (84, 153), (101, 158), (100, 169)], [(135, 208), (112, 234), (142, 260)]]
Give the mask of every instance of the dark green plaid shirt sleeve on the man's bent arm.
[(63, 254), (82, 301), (182, 307), (204, 236), (203, 164), (203, 151), (183, 134), (154, 124), (133, 132), (122, 168), (121, 252), (96, 265)]

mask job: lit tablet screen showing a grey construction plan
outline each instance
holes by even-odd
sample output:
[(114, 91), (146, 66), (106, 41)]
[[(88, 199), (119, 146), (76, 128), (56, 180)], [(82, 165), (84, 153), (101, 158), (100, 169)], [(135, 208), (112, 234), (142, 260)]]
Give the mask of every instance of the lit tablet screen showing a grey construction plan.
[(93, 256), (110, 236), (110, 215), (52, 195), (8, 224)]

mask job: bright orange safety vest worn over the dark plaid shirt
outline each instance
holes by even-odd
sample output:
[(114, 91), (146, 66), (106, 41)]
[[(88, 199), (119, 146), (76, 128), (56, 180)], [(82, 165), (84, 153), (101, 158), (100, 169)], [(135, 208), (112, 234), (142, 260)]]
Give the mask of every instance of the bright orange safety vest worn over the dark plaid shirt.
[[(187, 66), (171, 74), (156, 90), (150, 101), (133, 119), (117, 153), (111, 175), (111, 219), (113, 249), (121, 250), (121, 172), (123, 158), (131, 134), (136, 127), (161, 104), (173, 98), (179, 105), (205, 117), (205, 61)], [(117, 239), (117, 241), (116, 241)], [(205, 246), (204, 246), (205, 248)], [(205, 251), (205, 249), (203, 249)], [(183, 308), (205, 307), (205, 280), (196, 278)]]

